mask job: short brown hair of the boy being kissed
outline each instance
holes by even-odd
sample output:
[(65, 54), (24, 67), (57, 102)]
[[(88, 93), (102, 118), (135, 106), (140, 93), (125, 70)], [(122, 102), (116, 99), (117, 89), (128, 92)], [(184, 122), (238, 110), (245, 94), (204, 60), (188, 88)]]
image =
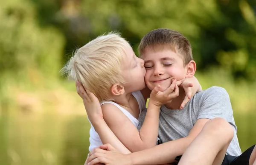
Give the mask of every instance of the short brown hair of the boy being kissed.
[(140, 56), (145, 53), (146, 48), (152, 51), (172, 50), (183, 59), (184, 66), (193, 60), (189, 40), (172, 29), (159, 28), (148, 32), (140, 41)]

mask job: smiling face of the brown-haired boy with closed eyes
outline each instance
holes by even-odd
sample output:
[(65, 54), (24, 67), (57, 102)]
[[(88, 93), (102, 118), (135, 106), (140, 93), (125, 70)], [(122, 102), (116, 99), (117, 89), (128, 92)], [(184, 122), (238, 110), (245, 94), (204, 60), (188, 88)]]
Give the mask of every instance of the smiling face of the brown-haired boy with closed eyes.
[(183, 59), (172, 50), (146, 49), (141, 58), (145, 61), (145, 83), (151, 90), (159, 84), (160, 91), (164, 91), (170, 87), (172, 79), (186, 78), (187, 71), (183, 66)]

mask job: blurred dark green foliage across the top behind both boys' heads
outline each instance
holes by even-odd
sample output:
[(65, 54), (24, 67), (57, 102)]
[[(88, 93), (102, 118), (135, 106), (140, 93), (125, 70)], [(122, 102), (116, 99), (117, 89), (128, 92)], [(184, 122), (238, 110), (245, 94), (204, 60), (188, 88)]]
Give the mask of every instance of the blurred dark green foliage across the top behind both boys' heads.
[[(235, 78), (255, 80), (255, 1), (37, 0), (35, 4), (38, 17), (44, 16), (42, 24), (64, 32), (67, 53), (107, 31), (122, 32), (136, 51), (148, 31), (172, 28), (190, 40), (199, 70), (216, 65)], [(55, 11), (55, 19), (44, 12), (46, 7), (49, 13)]]

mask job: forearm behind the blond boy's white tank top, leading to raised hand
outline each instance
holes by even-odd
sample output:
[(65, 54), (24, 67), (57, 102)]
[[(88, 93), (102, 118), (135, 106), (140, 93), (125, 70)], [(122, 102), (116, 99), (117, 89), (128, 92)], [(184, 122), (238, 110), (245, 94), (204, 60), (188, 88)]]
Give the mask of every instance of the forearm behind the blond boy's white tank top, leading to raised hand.
[(93, 127), (99, 134), (99, 137), (103, 144), (111, 144), (114, 148), (122, 152), (123, 154), (129, 154), (131, 151), (122, 144), (122, 142), (116, 137), (116, 135), (108, 127), (104, 120), (97, 120), (93, 123)]

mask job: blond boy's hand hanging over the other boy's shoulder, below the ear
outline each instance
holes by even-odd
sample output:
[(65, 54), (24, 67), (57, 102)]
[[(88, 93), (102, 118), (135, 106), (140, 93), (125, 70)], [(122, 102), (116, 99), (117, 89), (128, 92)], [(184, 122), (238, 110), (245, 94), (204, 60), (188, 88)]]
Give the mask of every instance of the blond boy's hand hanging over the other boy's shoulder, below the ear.
[(180, 109), (183, 109), (186, 103), (189, 102), (189, 100), (195, 95), (195, 93), (201, 91), (201, 85), (195, 77), (185, 78), (177, 81), (177, 85), (179, 87), (182, 87), (186, 93), (186, 96), (180, 105)]

